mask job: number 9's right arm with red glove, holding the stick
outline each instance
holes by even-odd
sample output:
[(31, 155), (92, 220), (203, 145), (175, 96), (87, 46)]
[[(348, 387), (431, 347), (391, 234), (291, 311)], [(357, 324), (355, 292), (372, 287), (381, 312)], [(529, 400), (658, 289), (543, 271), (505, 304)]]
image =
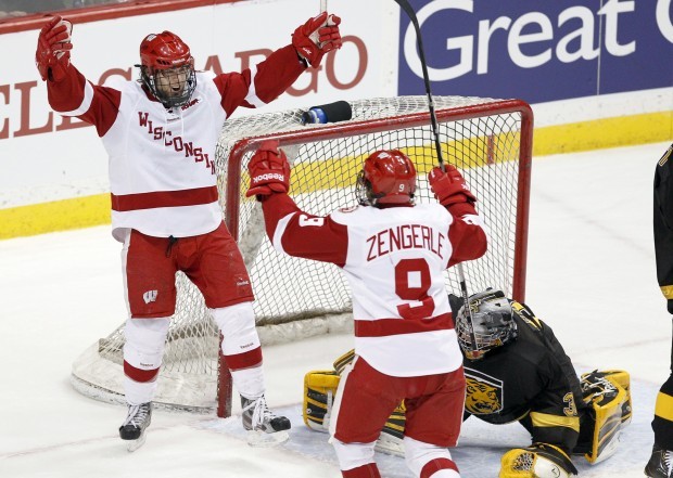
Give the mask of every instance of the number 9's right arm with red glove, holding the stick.
[(452, 165), (445, 165), (446, 170), (433, 168), (428, 175), (430, 189), (440, 204), (452, 214), (454, 223), (448, 238), (454, 248), (448, 266), (465, 260), (478, 259), (486, 253), (487, 238), (482, 228), (472, 194), (465, 179)]

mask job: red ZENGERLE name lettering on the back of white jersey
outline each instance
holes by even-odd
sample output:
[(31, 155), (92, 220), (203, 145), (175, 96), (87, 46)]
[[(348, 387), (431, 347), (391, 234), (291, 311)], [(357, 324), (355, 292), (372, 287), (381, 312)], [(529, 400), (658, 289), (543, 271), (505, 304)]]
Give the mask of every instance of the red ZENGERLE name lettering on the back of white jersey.
[(442, 243), (445, 236), (428, 225), (404, 224), (388, 228), (367, 237), (367, 261), (402, 249), (427, 249), (444, 260)]

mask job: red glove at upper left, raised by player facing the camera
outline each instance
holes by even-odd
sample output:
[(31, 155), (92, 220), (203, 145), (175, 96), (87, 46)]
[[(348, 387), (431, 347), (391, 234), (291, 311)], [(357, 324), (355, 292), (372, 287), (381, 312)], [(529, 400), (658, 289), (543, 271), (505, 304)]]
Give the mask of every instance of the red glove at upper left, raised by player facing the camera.
[(42, 80), (61, 81), (71, 65), (73, 24), (60, 16), (51, 18), (40, 30), (35, 64)]

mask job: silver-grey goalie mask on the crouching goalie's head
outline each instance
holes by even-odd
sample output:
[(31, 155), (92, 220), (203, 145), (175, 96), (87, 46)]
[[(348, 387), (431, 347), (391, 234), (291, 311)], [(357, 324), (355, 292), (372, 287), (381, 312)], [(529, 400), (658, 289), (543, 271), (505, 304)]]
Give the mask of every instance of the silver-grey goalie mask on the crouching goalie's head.
[(475, 344), (470, 334), (470, 318), (460, 307), (456, 316), (456, 334), (462, 352), (469, 360), (479, 360), (488, 350), (516, 340), (519, 332), (509, 300), (501, 290), (487, 289), (470, 296)]

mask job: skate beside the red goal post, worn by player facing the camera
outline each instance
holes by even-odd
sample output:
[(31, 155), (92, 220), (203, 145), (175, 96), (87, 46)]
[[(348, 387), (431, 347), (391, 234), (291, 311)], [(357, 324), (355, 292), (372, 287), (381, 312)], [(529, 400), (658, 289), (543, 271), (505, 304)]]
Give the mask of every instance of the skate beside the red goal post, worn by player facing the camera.
[(243, 428), (247, 430), (247, 444), (272, 447), (288, 441), (290, 421), (284, 416), (276, 416), (267, 406), (264, 396), (258, 399), (241, 397), (241, 406)]

